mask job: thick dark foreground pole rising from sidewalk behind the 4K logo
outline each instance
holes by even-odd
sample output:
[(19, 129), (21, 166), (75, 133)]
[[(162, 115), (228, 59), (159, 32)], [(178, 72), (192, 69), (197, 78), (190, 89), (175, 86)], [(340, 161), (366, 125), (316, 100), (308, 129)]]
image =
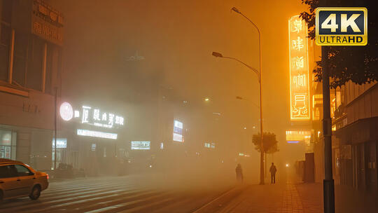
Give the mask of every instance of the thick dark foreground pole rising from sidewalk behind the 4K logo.
[[(328, 6), (327, 0), (321, 0), (319, 6)], [(323, 81), (323, 139), (324, 139), (324, 212), (335, 212), (335, 183), (332, 177), (332, 118), (330, 116), (330, 76), (328, 70), (328, 46), (321, 47)]]

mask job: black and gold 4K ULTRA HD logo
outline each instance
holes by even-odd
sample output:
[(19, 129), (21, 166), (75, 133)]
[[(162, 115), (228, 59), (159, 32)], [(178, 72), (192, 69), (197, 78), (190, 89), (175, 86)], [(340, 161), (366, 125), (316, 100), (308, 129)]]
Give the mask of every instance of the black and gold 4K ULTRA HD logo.
[(320, 46), (365, 46), (366, 8), (316, 8), (316, 44)]

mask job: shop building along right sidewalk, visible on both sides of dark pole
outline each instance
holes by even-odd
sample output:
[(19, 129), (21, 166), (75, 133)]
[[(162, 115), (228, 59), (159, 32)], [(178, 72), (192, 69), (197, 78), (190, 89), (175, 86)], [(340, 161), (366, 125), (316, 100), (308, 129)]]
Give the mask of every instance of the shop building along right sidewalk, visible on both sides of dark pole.
[[(321, 48), (314, 49), (316, 58)], [(332, 79), (331, 79), (332, 81)], [(322, 84), (314, 82), (313, 122), (315, 181), (324, 179)], [(332, 168), (335, 184), (377, 191), (378, 86), (351, 81), (330, 90)]]

